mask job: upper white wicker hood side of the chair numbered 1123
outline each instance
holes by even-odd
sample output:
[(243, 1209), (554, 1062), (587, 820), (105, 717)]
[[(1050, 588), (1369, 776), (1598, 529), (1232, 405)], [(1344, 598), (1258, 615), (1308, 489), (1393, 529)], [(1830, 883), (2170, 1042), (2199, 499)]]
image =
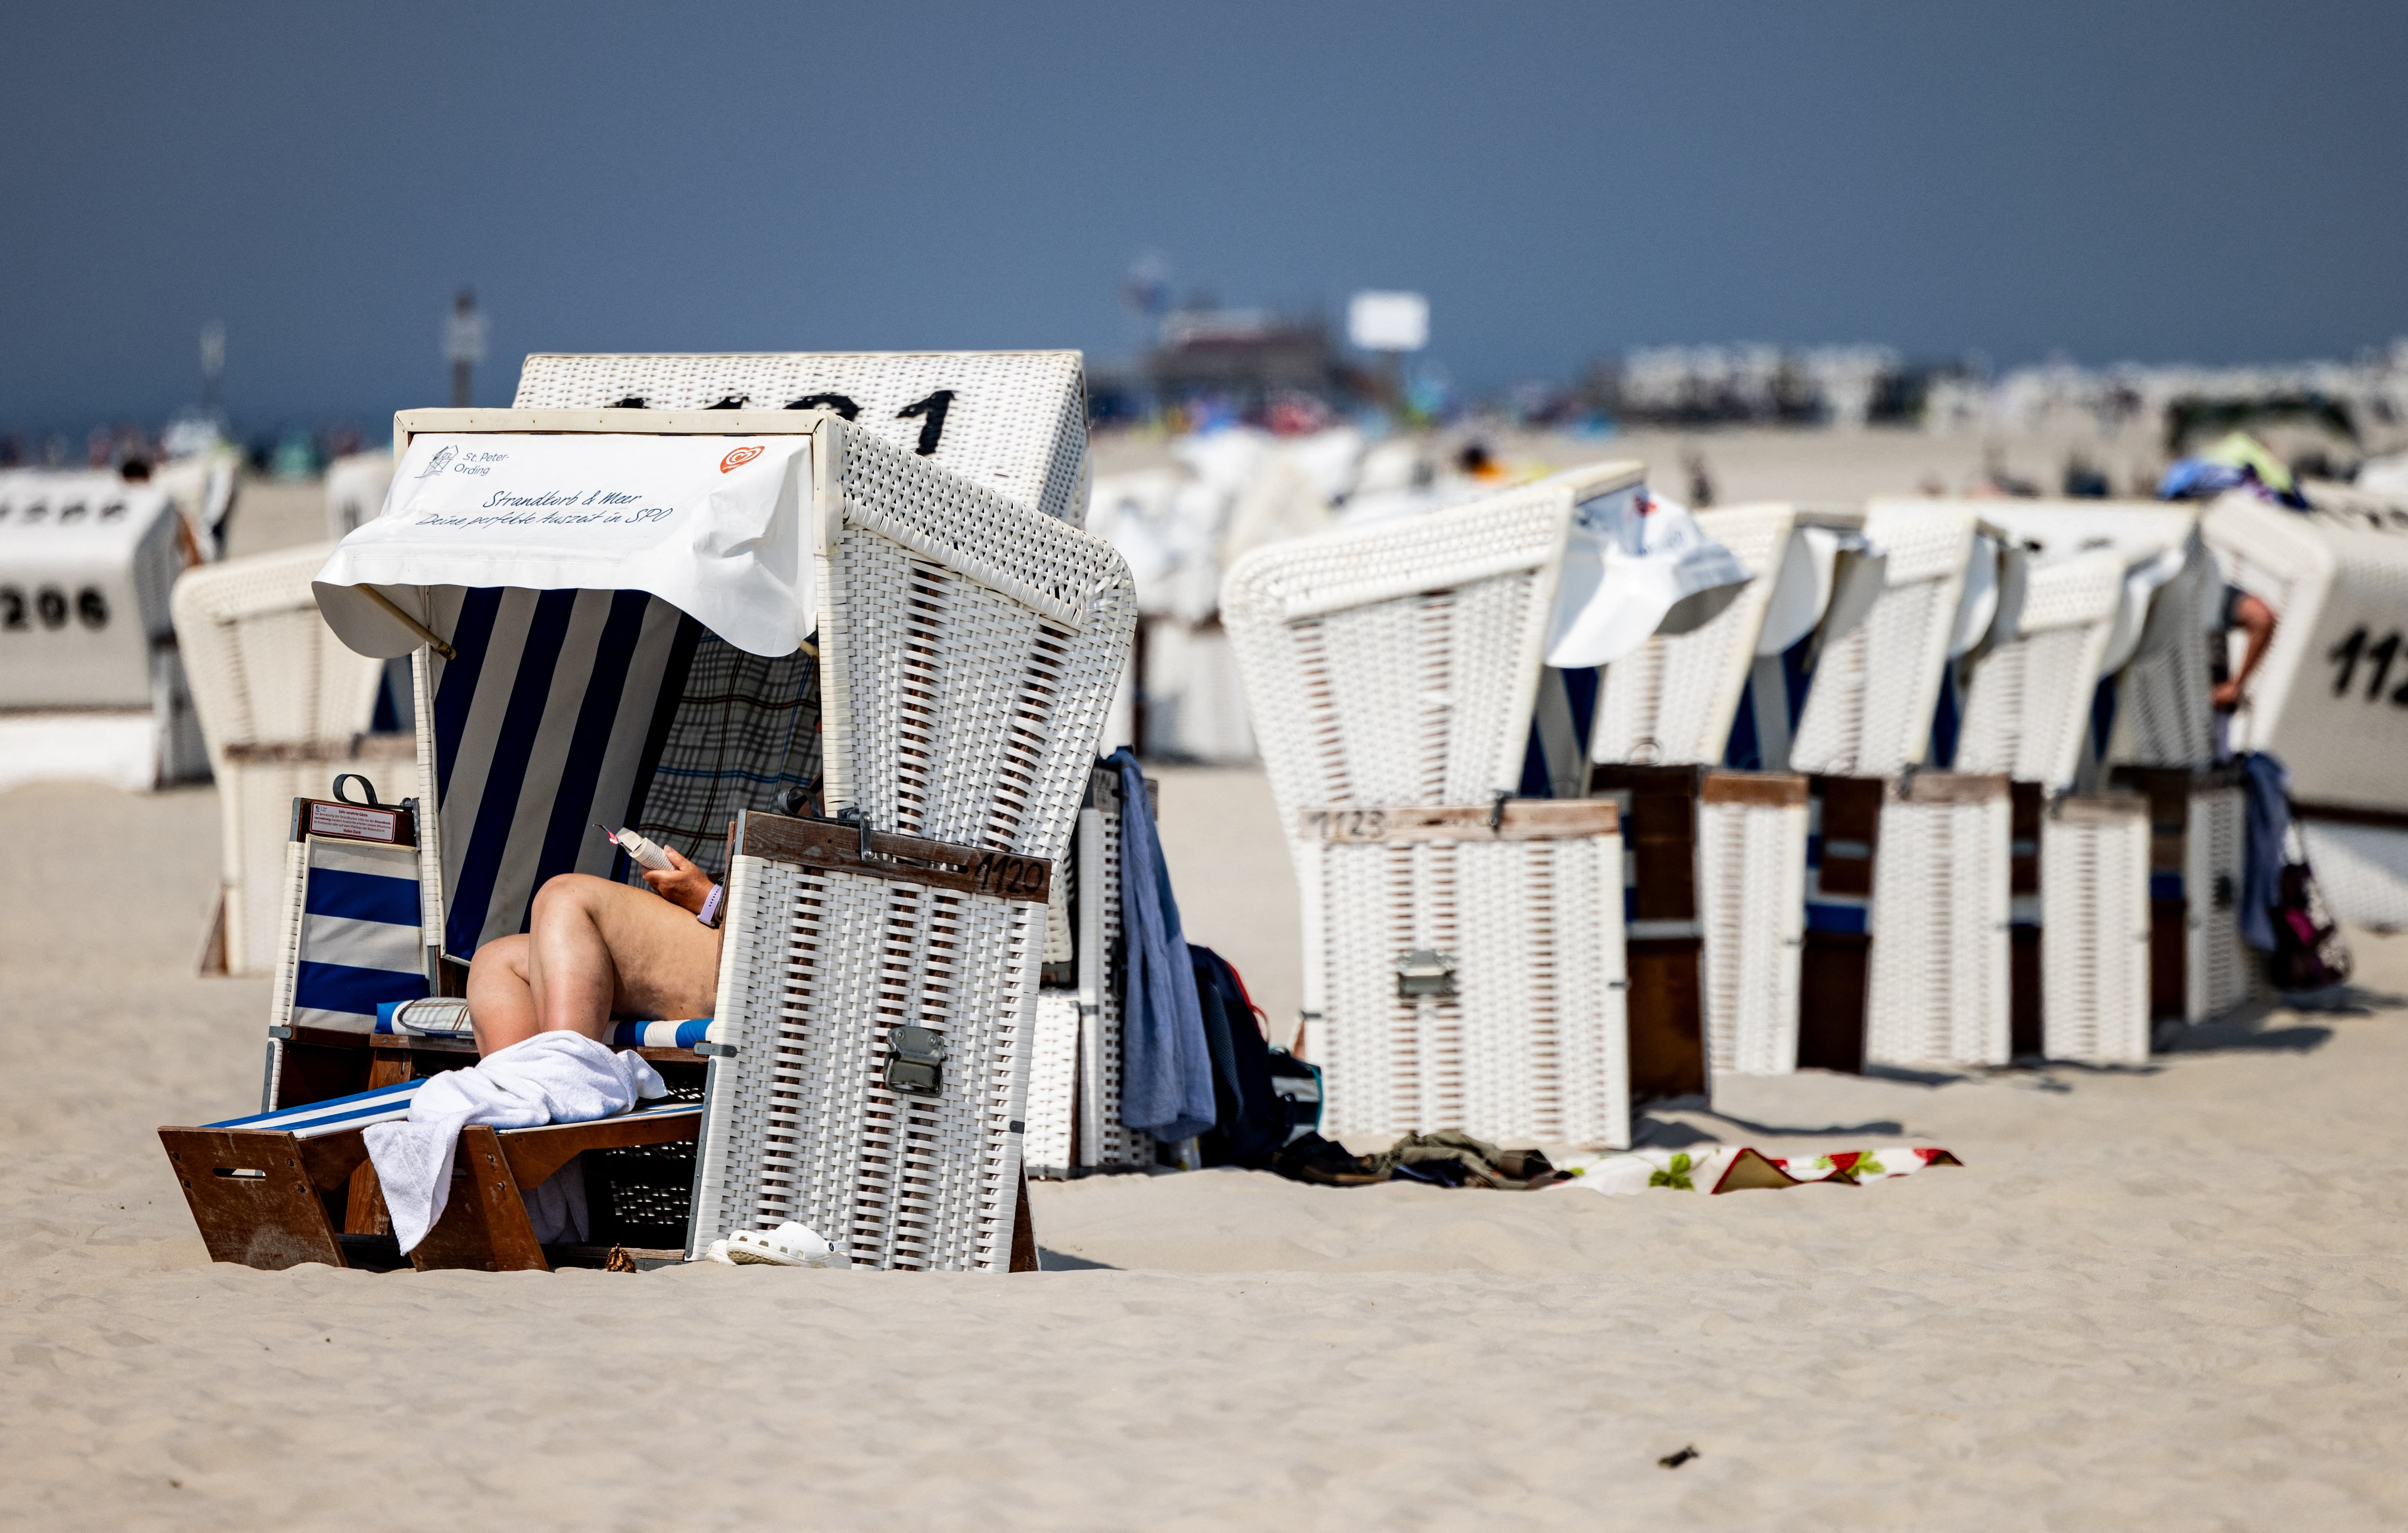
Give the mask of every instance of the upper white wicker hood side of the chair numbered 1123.
[(1628, 481), (1606, 464), (1240, 558), (1221, 621), (1281, 816), (1519, 782), (1572, 505)]

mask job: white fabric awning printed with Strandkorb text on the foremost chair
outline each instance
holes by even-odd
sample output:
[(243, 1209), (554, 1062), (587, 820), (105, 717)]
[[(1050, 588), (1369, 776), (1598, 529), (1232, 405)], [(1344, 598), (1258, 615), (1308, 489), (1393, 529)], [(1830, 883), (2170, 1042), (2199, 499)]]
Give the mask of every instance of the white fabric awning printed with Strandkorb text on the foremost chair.
[(816, 626), (809, 484), (799, 433), (421, 433), (385, 513), (318, 570), (318, 611), (390, 657), (424, 643), (431, 587), (638, 590), (739, 650), (792, 655)]

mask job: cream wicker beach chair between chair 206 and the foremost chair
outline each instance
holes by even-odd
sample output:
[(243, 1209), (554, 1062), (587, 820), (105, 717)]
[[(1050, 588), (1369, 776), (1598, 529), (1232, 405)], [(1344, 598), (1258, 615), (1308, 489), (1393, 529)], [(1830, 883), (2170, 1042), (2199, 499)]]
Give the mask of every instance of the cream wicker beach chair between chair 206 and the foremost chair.
[(383, 792), (414, 777), (402, 739), (361, 760), (385, 667), (347, 650), (318, 616), (311, 578), (330, 546), (226, 558), (176, 582), (176, 645), (217, 775), (212, 970), (255, 975), (277, 963), (294, 799), (323, 799), (335, 773), (383, 777)]

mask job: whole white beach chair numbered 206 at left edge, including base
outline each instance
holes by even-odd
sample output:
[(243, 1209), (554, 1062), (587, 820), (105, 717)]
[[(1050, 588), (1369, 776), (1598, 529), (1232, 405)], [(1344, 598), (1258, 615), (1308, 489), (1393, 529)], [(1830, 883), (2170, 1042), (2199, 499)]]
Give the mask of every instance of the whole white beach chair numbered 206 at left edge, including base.
[(183, 566), (157, 486), (0, 469), (0, 787), (207, 773), (169, 618)]

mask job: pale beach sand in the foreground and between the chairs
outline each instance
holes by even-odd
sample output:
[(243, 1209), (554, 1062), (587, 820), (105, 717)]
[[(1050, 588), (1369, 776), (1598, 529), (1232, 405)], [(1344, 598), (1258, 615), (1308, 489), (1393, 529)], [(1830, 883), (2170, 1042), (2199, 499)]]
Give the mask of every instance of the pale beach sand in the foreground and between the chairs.
[[(1247, 785), (1173, 782), (1165, 840), (1192, 931), (1271, 970), (1276, 845), (1190, 818)], [(1967, 1160), (1866, 1189), (1202, 1172), (1035, 1191), (1057, 1263), (1127, 1271), (255, 1273), (152, 1136), (258, 1095), (267, 987), (190, 977), (214, 833), (207, 792), (0, 794), (7, 1526), (2408, 1521), (2401, 1011), (1734, 1081), (1659, 1131)], [(2357, 951), (2408, 989), (2408, 943)]]

